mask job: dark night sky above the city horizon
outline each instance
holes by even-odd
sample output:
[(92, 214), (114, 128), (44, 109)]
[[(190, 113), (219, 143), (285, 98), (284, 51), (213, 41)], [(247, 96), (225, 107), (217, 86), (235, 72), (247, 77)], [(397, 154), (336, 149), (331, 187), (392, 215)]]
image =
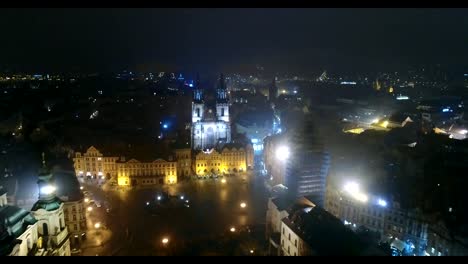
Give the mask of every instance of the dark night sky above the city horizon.
[(0, 25), (0, 67), (39, 71), (468, 62), (468, 9), (2, 9)]

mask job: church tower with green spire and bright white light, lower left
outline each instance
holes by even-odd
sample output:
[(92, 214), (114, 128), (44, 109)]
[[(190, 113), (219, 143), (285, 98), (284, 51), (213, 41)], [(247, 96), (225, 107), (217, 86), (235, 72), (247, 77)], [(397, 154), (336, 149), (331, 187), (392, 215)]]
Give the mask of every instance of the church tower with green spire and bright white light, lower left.
[(31, 213), (37, 219), (38, 233), (43, 246), (52, 255), (70, 256), (70, 235), (65, 225), (63, 202), (57, 197), (55, 181), (45, 163), (42, 153), (42, 168), (39, 172), (39, 199)]

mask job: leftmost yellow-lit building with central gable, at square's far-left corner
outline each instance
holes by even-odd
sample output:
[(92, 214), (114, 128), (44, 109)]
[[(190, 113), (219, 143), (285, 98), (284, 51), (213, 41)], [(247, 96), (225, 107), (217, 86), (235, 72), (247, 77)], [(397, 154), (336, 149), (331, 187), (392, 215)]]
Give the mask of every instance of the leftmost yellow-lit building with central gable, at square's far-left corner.
[(117, 176), (117, 160), (118, 157), (105, 157), (94, 146), (91, 146), (85, 153), (75, 152), (73, 166), (77, 176), (110, 179)]

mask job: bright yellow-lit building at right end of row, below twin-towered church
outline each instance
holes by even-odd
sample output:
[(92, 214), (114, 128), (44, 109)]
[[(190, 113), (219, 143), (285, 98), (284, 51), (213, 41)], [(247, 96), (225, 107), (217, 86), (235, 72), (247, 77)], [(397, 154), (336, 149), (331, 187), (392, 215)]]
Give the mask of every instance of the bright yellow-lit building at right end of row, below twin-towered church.
[(248, 156), (246, 148), (232, 144), (221, 150), (200, 151), (195, 156), (194, 171), (199, 176), (244, 172), (247, 169)]

